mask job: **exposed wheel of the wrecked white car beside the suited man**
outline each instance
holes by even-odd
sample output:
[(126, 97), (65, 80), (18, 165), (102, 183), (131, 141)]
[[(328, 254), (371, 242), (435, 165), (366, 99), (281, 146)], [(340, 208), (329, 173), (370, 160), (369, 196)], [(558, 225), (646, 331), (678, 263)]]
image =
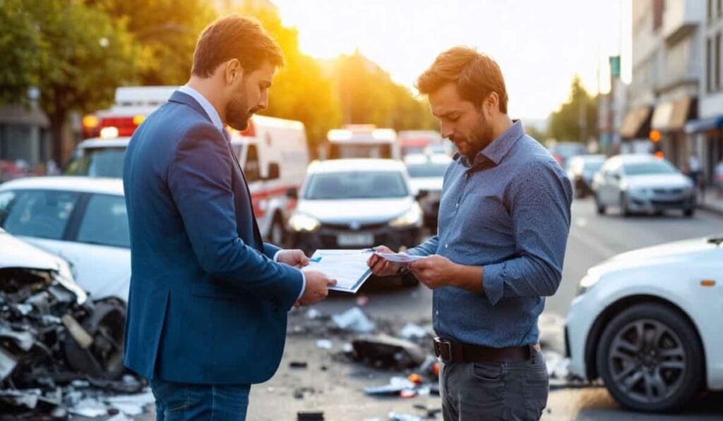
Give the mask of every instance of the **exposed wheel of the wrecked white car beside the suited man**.
[(125, 372), (123, 366), (123, 334), (126, 306), (110, 298), (95, 303), (93, 313), (82, 321), (82, 326), (93, 337), (93, 344), (82, 349), (70, 337), (64, 342), (68, 364), (91, 378), (117, 380)]

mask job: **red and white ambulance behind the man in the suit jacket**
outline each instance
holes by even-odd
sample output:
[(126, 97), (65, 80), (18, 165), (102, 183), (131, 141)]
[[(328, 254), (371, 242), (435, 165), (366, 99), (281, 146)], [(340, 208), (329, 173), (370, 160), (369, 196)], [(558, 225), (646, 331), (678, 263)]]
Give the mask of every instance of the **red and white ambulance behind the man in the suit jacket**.
[[(100, 136), (80, 142), (64, 170), (66, 175), (122, 177), (123, 159), (130, 136), (142, 123), (140, 117), (135, 118), (140, 121), (138, 124), (131, 117), (132, 125), (129, 125), (128, 116), (144, 116), (145, 119), (176, 90), (176, 87), (144, 88), (119, 88), (127, 92), (122, 95), (116, 92), (116, 102), (119, 98), (124, 101), (95, 115), (99, 118), (96, 128)], [(132, 100), (129, 97), (131, 92), (144, 99)], [(151, 93), (154, 95), (146, 95)], [(161, 93), (167, 94), (163, 100)], [(121, 125), (108, 125), (111, 122), (121, 122)], [(309, 165), (304, 124), (282, 118), (253, 116), (246, 130), (239, 132), (227, 129), (231, 133), (232, 149), (249, 184), (261, 234), (271, 243), (281, 245), (286, 239), (286, 220), (296, 207), (296, 192), (301, 187)]]

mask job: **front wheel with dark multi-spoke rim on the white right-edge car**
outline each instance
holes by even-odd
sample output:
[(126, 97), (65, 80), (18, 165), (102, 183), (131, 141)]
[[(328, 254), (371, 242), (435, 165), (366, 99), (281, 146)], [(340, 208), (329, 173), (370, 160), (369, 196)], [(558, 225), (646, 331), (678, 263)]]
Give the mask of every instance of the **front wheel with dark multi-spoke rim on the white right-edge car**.
[(634, 305), (609, 322), (597, 369), (623, 407), (678, 409), (703, 385), (703, 352), (696, 330), (679, 312), (657, 303)]

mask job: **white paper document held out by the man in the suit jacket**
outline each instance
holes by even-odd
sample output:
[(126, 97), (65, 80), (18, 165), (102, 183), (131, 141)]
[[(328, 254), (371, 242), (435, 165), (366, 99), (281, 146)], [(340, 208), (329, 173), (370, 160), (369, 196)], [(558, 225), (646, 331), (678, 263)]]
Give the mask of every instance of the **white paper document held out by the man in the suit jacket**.
[(311, 256), (309, 266), (304, 272), (316, 271), (330, 279), (336, 279), (336, 285), (330, 290), (355, 293), (372, 274), (367, 266), (372, 250), (317, 250)]

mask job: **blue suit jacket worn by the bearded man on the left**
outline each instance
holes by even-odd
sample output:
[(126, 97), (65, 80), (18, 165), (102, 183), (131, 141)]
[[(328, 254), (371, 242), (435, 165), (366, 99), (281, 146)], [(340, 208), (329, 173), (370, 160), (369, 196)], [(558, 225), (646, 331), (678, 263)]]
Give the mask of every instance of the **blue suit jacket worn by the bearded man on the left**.
[(132, 277), (128, 368), (184, 383), (260, 383), (281, 360), (303, 285), (262, 243), (223, 133), (182, 92), (133, 135), (124, 162)]

